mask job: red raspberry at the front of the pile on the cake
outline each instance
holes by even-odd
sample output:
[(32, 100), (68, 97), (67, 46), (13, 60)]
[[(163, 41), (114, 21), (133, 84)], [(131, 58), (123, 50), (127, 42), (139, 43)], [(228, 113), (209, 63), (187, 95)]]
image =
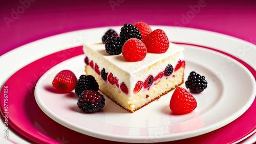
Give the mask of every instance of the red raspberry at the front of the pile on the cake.
[(131, 38), (123, 44), (122, 55), (126, 61), (141, 61), (146, 57), (146, 46), (141, 40)]

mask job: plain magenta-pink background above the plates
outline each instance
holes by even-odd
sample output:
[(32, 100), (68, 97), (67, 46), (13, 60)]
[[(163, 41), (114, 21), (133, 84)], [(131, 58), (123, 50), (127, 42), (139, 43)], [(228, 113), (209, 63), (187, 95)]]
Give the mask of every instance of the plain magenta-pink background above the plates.
[[(200, 9), (193, 11), (191, 7)], [(255, 17), (256, 1), (248, 0), (2, 0), (0, 55), (26, 43), (60, 33), (121, 26), (138, 21), (149, 25), (178, 25), (209, 30), (256, 44)]]

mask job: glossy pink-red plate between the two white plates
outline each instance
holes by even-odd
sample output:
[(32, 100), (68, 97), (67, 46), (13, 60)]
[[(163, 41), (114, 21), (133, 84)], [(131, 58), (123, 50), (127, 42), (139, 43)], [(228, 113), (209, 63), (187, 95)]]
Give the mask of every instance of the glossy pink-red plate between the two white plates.
[[(199, 47), (236, 59), (246, 66), (256, 79), (256, 71), (244, 61), (210, 47)], [(60, 54), (66, 55), (65, 59), (60, 58)], [(84, 139), (96, 143), (120, 143), (90, 137), (63, 127), (42, 112), (35, 102), (34, 88), (38, 79), (56, 64), (81, 54), (83, 54), (82, 46), (78, 46), (48, 55), (21, 68), (6, 81), (4, 86), (8, 86), (8, 95), (12, 95), (12, 97), (8, 97), (8, 110), (5, 111), (3, 94), (5, 87), (3, 86), (1, 89), (1, 112), (3, 115), (6, 114), (4, 112), (9, 112), (8, 124), (12, 128), (38, 143), (78, 143)], [(196, 137), (162, 143), (231, 143), (237, 141), (256, 129), (255, 118), (251, 117), (254, 114), (254, 109), (256, 109), (255, 100), (243, 115), (220, 129)]]

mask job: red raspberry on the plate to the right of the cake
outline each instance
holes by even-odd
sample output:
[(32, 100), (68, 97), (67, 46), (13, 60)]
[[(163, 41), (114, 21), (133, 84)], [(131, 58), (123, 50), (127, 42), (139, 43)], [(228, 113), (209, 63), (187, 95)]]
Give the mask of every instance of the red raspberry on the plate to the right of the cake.
[(185, 114), (196, 109), (197, 101), (186, 89), (177, 87), (170, 99), (169, 107), (176, 114)]

